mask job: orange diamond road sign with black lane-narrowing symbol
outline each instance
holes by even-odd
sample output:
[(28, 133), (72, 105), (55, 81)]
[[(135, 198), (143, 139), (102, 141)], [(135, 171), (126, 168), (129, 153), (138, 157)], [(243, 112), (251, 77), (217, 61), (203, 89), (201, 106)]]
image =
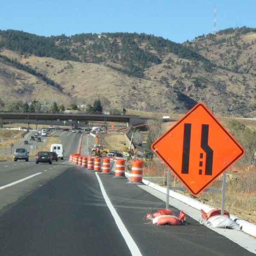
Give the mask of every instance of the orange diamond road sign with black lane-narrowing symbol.
[(198, 103), (152, 145), (192, 195), (199, 195), (244, 155), (244, 148)]

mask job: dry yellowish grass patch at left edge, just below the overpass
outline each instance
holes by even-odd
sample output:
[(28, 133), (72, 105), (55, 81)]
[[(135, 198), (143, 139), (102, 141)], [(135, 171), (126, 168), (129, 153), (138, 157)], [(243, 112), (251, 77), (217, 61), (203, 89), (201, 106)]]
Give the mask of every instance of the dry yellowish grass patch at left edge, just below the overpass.
[(9, 148), (11, 143), (14, 144), (21, 140), (21, 135), (24, 132), (25, 131), (0, 129), (0, 139), (4, 139), (4, 142), (0, 143), (0, 150)]

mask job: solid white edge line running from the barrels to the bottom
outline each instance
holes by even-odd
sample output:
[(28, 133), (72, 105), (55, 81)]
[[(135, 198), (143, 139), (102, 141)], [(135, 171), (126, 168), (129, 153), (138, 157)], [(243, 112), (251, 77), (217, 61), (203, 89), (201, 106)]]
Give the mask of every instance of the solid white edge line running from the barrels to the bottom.
[(125, 242), (129, 248), (129, 250), (131, 251), (131, 254), (134, 256), (142, 256), (142, 254), (140, 253), (140, 249), (137, 247), (137, 244), (135, 244), (134, 240), (132, 239), (131, 235), (129, 234), (128, 230), (126, 229), (125, 225), (122, 223), (121, 218), (119, 217), (119, 215), (117, 214), (115, 208), (113, 207), (113, 205), (111, 204), (110, 199), (108, 198), (108, 195), (104, 189), (104, 186), (102, 184), (102, 181), (99, 178), (98, 173), (95, 173), (98, 181), (99, 181), (99, 186), (100, 189), (102, 191), (102, 195), (105, 199), (105, 202), (108, 206), (108, 209), (110, 209), (110, 212), (116, 222), (116, 226), (118, 227), (118, 229), (120, 230), (123, 238), (125, 239)]

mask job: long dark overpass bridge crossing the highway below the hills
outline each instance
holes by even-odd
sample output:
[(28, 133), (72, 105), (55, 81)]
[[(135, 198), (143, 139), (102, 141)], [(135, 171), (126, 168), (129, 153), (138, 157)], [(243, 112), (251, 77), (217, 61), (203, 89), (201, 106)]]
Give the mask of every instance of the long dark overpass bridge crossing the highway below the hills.
[(45, 113), (45, 112), (0, 112), (0, 127), (3, 122), (10, 120), (72, 120), (75, 127), (78, 121), (99, 121), (99, 122), (124, 122), (127, 126), (133, 126), (145, 123), (149, 117), (140, 117), (137, 115), (112, 115), (112, 114), (88, 114), (88, 113)]

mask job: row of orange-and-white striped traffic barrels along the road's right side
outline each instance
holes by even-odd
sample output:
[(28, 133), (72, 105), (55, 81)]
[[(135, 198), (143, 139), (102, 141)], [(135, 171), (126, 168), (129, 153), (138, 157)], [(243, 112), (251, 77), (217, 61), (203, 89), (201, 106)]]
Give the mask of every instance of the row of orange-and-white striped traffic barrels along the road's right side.
[[(102, 172), (103, 174), (111, 173), (110, 158), (108, 157), (103, 158), (103, 162), (101, 163), (100, 157), (93, 158), (80, 156), (79, 154), (71, 154), (70, 161), (94, 172)], [(122, 158), (116, 160), (116, 171), (114, 177), (125, 178), (125, 160)], [(143, 183), (142, 179), (143, 161), (134, 159), (131, 167), (131, 177), (128, 183), (141, 184)]]

